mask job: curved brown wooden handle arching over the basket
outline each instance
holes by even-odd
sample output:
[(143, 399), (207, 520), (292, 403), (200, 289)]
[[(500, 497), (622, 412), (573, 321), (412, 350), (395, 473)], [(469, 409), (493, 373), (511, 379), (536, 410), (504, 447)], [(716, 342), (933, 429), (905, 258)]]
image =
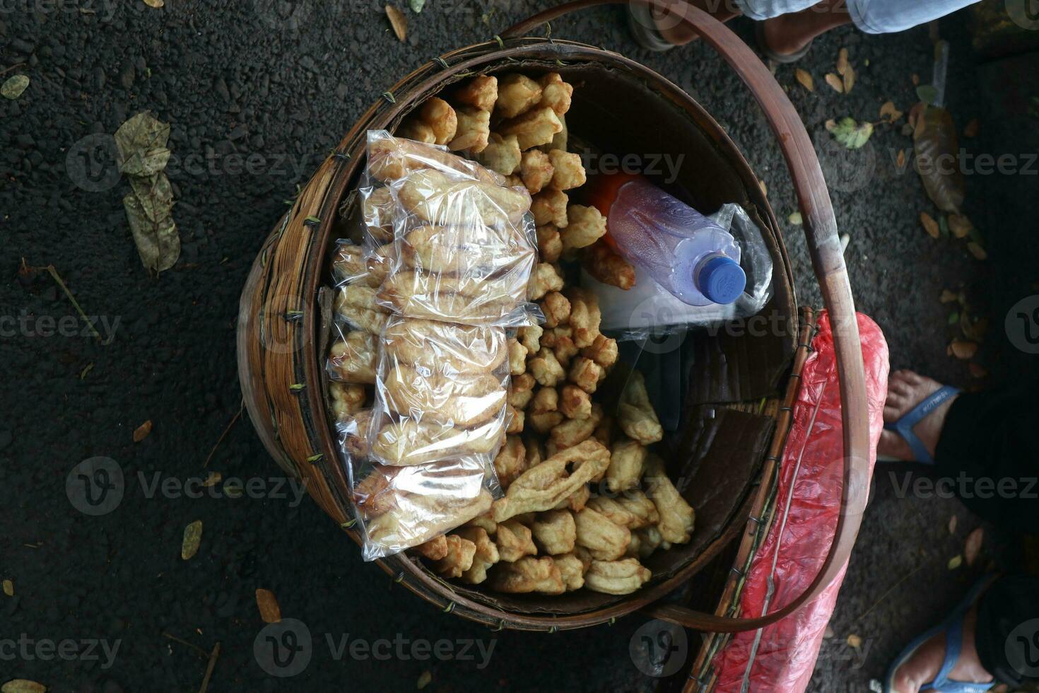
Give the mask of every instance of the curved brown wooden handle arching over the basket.
[(736, 71), (754, 99), (779, 140), (787, 167), (794, 183), (798, 206), (808, 241), (811, 265), (830, 316), (837, 377), (841, 387), (841, 409), (844, 434), (844, 482), (842, 512), (837, 517), (833, 543), (830, 545), (816, 579), (808, 588), (785, 607), (756, 618), (727, 618), (693, 611), (676, 605), (650, 605), (643, 609), (661, 618), (686, 628), (735, 633), (751, 631), (789, 616), (802, 605), (817, 597), (836, 579), (851, 555), (862, 523), (870, 483), (870, 427), (865, 397), (865, 373), (858, 335), (855, 304), (848, 279), (844, 252), (837, 236), (836, 218), (819, 159), (794, 105), (765, 64), (730, 29), (708, 12), (685, 0), (575, 0), (545, 9), (509, 29), (502, 36), (514, 38), (563, 15), (586, 7), (640, 2), (650, 7), (667, 8), (692, 27), (709, 46)]

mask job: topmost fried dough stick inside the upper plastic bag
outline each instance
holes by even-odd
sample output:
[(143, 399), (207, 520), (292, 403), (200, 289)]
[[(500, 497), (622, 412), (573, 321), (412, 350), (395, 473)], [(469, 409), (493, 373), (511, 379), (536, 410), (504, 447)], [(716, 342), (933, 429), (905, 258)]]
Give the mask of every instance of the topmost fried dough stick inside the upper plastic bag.
[(425, 169), (451, 171), (489, 185), (505, 185), (501, 175), (443, 149), (392, 137), (385, 131), (368, 133), (368, 174), (374, 179), (397, 181), (410, 172)]

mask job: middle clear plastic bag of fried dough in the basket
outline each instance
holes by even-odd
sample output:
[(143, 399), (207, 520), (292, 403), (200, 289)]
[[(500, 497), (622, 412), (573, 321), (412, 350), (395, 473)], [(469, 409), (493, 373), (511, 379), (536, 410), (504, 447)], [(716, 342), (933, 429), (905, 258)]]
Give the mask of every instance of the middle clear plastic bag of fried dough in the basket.
[(494, 459), (508, 427), (505, 329), (392, 316), (382, 332), (369, 453), (392, 467)]

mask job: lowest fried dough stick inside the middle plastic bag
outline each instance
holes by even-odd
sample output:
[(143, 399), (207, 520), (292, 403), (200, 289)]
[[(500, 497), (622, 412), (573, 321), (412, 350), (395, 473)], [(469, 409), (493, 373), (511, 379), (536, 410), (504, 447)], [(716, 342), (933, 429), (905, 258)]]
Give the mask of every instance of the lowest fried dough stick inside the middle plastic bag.
[(492, 455), (504, 436), (500, 419), (476, 428), (402, 419), (375, 430), (368, 452), (383, 464), (407, 467), (451, 456)]

